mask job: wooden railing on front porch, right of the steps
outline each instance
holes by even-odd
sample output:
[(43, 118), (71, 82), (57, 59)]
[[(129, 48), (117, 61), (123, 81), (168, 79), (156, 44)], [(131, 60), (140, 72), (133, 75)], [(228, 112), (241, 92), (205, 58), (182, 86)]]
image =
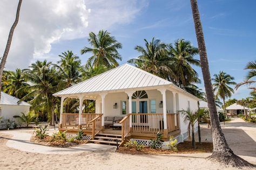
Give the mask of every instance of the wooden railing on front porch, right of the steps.
[(132, 132), (163, 132), (163, 114), (131, 114)]

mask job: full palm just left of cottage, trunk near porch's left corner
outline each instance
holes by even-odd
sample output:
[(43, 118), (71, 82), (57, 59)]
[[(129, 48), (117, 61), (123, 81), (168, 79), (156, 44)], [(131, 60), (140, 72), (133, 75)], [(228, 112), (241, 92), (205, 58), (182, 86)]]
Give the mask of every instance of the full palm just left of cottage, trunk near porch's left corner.
[(52, 63), (46, 60), (36, 61), (31, 64), (30, 68), (25, 70), (26, 79), (30, 82), (30, 86), (19, 89), (28, 90), (29, 92), (21, 100), (29, 100), (32, 105), (43, 103), (43, 108), (48, 112), (50, 125), (53, 125), (53, 109), (57, 98), (53, 97), (52, 94), (59, 90), (58, 82), (62, 79), (62, 76), (52, 67)]

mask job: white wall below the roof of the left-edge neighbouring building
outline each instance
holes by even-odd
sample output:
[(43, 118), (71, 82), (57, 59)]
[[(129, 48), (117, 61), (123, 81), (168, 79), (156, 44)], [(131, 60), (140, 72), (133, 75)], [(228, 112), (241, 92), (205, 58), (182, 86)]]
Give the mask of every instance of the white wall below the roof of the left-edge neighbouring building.
[(0, 108), (2, 108), (0, 116), (3, 117), (3, 119), (14, 119), (14, 116), (16, 115), (21, 116), (21, 112), (24, 112), (25, 114), (28, 113), (30, 106), (0, 104)]

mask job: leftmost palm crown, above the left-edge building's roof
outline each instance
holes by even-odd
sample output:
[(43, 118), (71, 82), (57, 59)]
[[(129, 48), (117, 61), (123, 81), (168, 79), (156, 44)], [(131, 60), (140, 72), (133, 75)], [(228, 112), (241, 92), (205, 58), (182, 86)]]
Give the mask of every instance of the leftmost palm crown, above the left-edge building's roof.
[(17, 98), (24, 97), (26, 91), (17, 91), (22, 87), (29, 86), (29, 84), (26, 83), (23, 70), (17, 68), (15, 72), (9, 71), (5, 72), (4, 74), (8, 74), (8, 78), (6, 80), (5, 86), (3, 87), (3, 91)]

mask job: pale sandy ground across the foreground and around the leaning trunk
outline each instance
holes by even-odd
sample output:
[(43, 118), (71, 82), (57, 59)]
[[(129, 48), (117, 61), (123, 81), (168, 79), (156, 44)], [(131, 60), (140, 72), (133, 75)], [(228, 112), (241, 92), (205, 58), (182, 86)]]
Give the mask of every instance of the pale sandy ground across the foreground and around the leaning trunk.
[[(205, 125), (203, 125), (205, 126)], [(256, 164), (255, 124), (234, 119), (222, 126), (228, 144), (242, 158)], [(211, 141), (210, 130), (202, 128), (203, 138)], [(28, 132), (30, 133), (30, 132)], [(222, 167), (205, 158), (210, 153), (170, 155), (130, 155), (108, 151), (70, 154), (42, 154), (6, 146), (11, 134), (0, 131), (0, 169), (235, 169)]]

